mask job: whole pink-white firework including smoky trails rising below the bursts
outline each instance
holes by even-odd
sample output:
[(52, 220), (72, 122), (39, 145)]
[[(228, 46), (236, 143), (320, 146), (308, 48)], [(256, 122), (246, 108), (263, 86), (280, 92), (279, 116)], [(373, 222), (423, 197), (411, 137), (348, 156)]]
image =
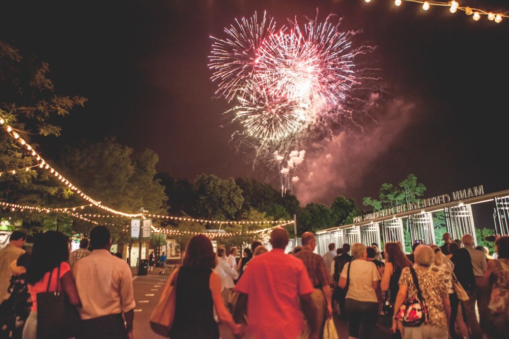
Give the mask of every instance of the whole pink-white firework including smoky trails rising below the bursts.
[(334, 24), (334, 18), (306, 18), (304, 25), (288, 20), (276, 28), (267, 13), (260, 20), (255, 13), (225, 28), (225, 38), (211, 37), (216, 93), (236, 99), (225, 114), (243, 126), (232, 140), (256, 152), (253, 168), (257, 161), (277, 167), (282, 192), (299, 180), (292, 172), (305, 151), (295, 149), (333, 139), (334, 129), (365, 104), (354, 98), (352, 88), (367, 81), (354, 76), (353, 59), (370, 48), (353, 49), (350, 40), (358, 32), (341, 32), (341, 20)]

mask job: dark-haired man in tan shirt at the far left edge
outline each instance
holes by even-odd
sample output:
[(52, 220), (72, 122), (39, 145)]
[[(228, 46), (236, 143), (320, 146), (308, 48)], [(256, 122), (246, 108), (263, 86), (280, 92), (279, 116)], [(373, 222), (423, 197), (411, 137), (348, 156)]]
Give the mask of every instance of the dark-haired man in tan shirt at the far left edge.
[(22, 249), (26, 241), (26, 233), (22, 231), (14, 231), (9, 237), (9, 243), (0, 250), (0, 303), (9, 298), (10, 293), (7, 292), (11, 282), (12, 262), (16, 262), (18, 258), (25, 253)]

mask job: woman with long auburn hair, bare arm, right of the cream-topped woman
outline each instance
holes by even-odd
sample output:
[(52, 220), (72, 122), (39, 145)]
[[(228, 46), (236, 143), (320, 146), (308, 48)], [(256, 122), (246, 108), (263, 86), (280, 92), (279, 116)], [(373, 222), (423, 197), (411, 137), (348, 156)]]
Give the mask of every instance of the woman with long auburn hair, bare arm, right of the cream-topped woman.
[[(412, 262), (403, 253), (401, 245), (397, 242), (386, 242), (384, 246), (385, 269), (380, 282), (382, 293), (385, 293), (385, 298), (394, 307), (396, 296), (400, 290), (400, 276), (401, 271), (405, 267), (412, 266)], [(390, 315), (390, 314), (389, 314)], [(398, 323), (398, 331), (394, 337), (401, 337), (403, 327)]]

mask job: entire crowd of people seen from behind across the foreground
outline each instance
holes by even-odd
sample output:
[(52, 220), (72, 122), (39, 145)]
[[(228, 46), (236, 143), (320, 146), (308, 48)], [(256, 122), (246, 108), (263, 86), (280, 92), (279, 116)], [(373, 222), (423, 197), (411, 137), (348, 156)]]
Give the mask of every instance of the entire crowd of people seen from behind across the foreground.
[[(288, 232), (278, 227), (270, 234), (270, 251), (254, 241), (237, 258), (237, 247), (218, 246), (214, 252), (209, 238), (196, 235), (169, 278), (176, 284), (170, 337), (218, 339), (218, 323), (223, 323), (237, 337), (316, 339), (334, 314), (347, 320), (349, 338), (373, 337), (381, 319), (394, 338), (505, 337), (509, 236), (496, 238), (493, 256), (483, 246), (474, 247), (470, 234), (453, 240), (445, 233), (443, 240), (442, 246), (416, 241), (410, 254), (399, 242), (383, 244), (382, 251), (376, 243), (344, 243), (337, 250), (330, 243), (321, 256), (312, 232), (303, 233), (301, 245), (285, 253)], [(15, 231), (0, 250), (0, 314), (14, 313), (9, 337), (40, 338), (38, 314), (50, 310), (38, 310), (37, 295), (60, 288), (79, 311), (77, 339), (132, 338), (132, 273), (126, 261), (109, 252), (105, 226), (94, 227), (90, 239), (83, 238), (70, 254), (68, 237), (58, 231), (40, 234), (31, 253), (23, 250), (25, 241), (26, 234)], [(153, 253), (149, 261), (153, 266)], [(402, 321), (400, 309), (417, 296), (425, 301), (425, 317), (411, 326)]]

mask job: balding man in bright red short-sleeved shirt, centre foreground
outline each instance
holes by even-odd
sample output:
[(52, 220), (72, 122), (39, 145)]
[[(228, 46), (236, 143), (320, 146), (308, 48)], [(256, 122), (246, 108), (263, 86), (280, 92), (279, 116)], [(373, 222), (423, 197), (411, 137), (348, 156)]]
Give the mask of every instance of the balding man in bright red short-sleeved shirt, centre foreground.
[(295, 339), (304, 328), (302, 305), (312, 324), (309, 337), (317, 339), (320, 329), (314, 325), (314, 288), (307, 270), (301, 260), (285, 254), (288, 233), (284, 228), (272, 231), (270, 243), (272, 251), (253, 257), (235, 285), (234, 319), (243, 323), (247, 314), (246, 333), (253, 339)]

